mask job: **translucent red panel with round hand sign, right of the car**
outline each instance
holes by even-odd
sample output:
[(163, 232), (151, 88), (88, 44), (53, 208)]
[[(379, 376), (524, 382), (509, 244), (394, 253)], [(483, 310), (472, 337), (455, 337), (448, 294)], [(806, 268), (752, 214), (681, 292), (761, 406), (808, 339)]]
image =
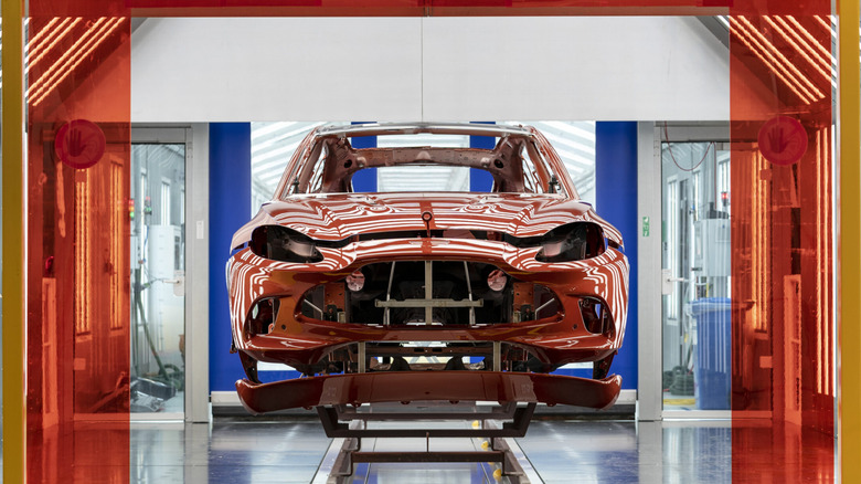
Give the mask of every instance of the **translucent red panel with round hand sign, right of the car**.
[(831, 481), (831, 4), (757, 7), (730, 17), (733, 480)]

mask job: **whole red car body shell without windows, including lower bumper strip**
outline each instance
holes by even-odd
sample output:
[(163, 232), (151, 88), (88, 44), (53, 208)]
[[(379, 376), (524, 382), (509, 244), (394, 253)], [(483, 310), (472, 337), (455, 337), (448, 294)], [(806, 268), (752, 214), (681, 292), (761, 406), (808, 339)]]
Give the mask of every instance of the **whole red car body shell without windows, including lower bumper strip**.
[[(493, 149), (357, 149), (387, 135), (491, 136)], [(488, 192), (353, 192), (363, 169), (468, 167)], [(592, 408), (625, 334), (620, 233), (578, 200), (548, 140), (522, 126), (354, 125), (309, 134), (227, 262), (245, 407), (528, 401)], [(466, 360), (465, 360), (466, 358)], [(302, 378), (262, 383), (257, 362)], [(593, 378), (550, 375), (594, 362)]]

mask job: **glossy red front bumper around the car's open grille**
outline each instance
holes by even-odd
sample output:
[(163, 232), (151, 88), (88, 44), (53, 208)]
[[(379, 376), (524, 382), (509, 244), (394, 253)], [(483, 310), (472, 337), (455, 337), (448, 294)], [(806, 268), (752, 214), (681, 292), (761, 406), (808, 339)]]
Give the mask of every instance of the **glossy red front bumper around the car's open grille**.
[[(552, 365), (595, 361), (615, 353), (621, 346), (627, 319), (627, 257), (608, 249), (585, 261), (541, 263), (535, 260), (536, 251), (489, 241), (389, 240), (320, 249), (323, 262), (291, 264), (262, 259), (245, 249), (234, 254), (227, 267), (234, 345), (257, 360), (294, 367), (311, 365), (327, 351), (357, 341), (503, 341), (531, 350)], [(366, 264), (415, 260), (493, 264), (520, 281), (549, 287), (563, 307), (535, 320), (480, 326), (389, 327), (300, 314), (304, 294), (317, 285), (342, 280)], [(578, 307), (583, 297), (606, 303), (613, 316), (612, 330), (586, 330)], [(249, 334), (249, 312), (264, 298), (279, 299), (277, 319), (268, 334)]]

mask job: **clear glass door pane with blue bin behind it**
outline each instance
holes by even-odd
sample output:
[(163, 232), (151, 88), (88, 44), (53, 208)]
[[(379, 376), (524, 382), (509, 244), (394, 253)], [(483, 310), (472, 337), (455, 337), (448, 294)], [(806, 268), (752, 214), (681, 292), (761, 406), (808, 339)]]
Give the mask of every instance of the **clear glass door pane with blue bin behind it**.
[(663, 410), (730, 410), (730, 151), (661, 144)]

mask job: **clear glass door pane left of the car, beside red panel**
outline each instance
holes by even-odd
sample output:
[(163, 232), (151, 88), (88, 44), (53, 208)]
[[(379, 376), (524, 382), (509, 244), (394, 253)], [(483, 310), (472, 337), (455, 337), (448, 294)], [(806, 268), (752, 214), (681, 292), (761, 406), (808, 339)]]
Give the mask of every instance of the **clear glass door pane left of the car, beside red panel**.
[(185, 144), (132, 143), (131, 412), (180, 419), (185, 393)]

